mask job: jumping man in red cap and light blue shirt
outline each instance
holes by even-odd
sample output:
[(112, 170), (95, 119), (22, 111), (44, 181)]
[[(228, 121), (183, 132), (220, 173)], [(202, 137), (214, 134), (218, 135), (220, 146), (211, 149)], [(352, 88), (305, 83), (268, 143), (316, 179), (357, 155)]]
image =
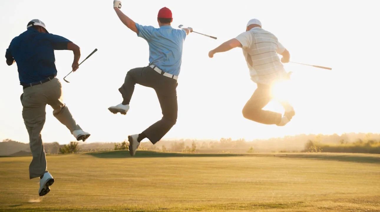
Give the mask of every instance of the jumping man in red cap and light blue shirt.
[(173, 29), (170, 9), (164, 7), (158, 11), (157, 21), (160, 28), (142, 26), (135, 23), (120, 11), (121, 2), (114, 1), (114, 9), (120, 20), (132, 31), (144, 38), (149, 44), (149, 65), (128, 71), (124, 84), (119, 88), (123, 102), (109, 107), (112, 113), (126, 114), (129, 102), (138, 83), (153, 88), (161, 105), (162, 119), (155, 122), (140, 134), (128, 136), (129, 152), (135, 155), (140, 141), (148, 138), (153, 144), (157, 143), (177, 121), (177, 79), (181, 67), (182, 46), (186, 35), (192, 28)]

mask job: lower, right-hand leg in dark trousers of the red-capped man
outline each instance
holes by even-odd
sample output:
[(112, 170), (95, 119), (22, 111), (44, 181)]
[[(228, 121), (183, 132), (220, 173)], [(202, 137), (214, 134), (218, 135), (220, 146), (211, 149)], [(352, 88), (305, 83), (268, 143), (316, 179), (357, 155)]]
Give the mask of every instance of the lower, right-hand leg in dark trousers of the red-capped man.
[[(153, 144), (157, 143), (176, 124), (178, 114), (176, 88), (177, 81), (169, 78), (158, 85), (158, 88), (155, 88), (163, 117), (141, 133)], [(140, 136), (139, 140), (143, 137)]]

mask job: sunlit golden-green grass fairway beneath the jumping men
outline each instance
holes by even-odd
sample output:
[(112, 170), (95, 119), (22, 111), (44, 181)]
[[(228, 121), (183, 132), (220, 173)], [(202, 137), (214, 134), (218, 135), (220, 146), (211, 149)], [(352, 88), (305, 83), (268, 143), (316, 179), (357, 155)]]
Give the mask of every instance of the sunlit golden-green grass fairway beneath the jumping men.
[(0, 211), (380, 212), (374, 154), (48, 155), (43, 197), (30, 160), (0, 157)]

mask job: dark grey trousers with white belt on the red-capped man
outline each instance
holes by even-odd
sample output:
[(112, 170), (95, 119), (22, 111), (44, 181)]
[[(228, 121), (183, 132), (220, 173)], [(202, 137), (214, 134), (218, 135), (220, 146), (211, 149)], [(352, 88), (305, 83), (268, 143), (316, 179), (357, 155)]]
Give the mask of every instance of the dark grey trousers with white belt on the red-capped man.
[(135, 68), (128, 71), (124, 84), (119, 88), (123, 97), (123, 104), (129, 104), (135, 84), (153, 88), (161, 105), (162, 119), (155, 122), (144, 134), (153, 144), (157, 143), (177, 121), (177, 80), (158, 74), (149, 66)]

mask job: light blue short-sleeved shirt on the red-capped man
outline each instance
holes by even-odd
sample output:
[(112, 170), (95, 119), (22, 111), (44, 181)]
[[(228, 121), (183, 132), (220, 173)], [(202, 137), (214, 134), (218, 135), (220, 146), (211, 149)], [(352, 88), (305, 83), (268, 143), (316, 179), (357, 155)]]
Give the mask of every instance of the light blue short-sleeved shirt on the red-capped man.
[(178, 76), (182, 63), (182, 47), (186, 38), (185, 30), (173, 29), (170, 25), (160, 28), (142, 26), (136, 23), (138, 36), (149, 44), (149, 65)]

